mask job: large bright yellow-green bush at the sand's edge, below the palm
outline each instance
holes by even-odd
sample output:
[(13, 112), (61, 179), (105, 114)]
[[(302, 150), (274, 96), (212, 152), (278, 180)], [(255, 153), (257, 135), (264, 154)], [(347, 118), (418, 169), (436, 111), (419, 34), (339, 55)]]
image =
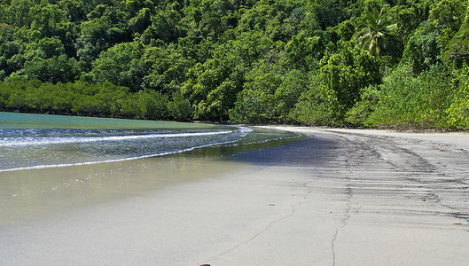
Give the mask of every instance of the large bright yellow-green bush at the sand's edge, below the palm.
[(367, 124), (397, 128), (444, 128), (454, 86), (443, 66), (412, 75), (411, 66), (399, 66), (384, 78), (379, 102)]

